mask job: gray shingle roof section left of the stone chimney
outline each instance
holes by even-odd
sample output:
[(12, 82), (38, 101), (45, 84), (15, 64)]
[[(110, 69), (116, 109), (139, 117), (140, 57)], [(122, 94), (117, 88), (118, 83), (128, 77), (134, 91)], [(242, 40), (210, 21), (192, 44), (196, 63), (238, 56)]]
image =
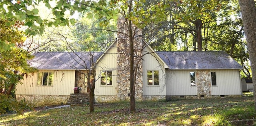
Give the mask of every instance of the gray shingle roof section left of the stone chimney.
[[(102, 52), (92, 52), (94, 62)], [(37, 69), (87, 69), (90, 68), (89, 52), (36, 52), (28, 63)]]

